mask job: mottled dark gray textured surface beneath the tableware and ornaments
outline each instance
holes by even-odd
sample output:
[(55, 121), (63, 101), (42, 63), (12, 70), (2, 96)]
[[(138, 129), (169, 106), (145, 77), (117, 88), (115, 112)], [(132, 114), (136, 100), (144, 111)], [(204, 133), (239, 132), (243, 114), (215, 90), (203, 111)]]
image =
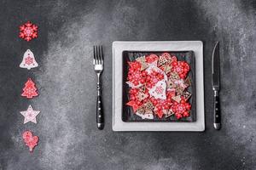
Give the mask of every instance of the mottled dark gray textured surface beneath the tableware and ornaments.
[[(256, 4), (248, 1), (15, 1), (0, 3), (0, 169), (256, 169)], [(39, 37), (25, 42), (18, 26), (31, 20)], [(113, 133), (112, 42), (202, 40), (206, 131)], [(211, 54), (221, 44), (223, 128), (212, 129)], [(93, 44), (103, 44), (106, 127), (96, 129)], [(36, 69), (20, 69), (27, 48)], [(27, 77), (39, 96), (20, 97)], [(38, 124), (23, 125), (32, 104)], [(21, 133), (39, 144), (31, 154)]]

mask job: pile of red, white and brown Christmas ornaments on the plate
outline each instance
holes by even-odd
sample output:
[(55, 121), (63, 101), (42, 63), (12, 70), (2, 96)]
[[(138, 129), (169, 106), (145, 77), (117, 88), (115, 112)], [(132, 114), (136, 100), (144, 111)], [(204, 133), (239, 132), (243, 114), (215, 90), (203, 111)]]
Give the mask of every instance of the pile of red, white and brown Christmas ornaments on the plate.
[(137, 116), (142, 119), (177, 119), (189, 116), (191, 85), (190, 66), (169, 53), (149, 54), (129, 61), (127, 84), (129, 101)]

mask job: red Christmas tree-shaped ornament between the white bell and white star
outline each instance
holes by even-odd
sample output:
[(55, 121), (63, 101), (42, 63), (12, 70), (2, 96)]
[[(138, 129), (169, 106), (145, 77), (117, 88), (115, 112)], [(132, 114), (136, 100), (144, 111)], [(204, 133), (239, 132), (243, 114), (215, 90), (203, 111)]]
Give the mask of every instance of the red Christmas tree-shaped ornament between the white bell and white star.
[(37, 90), (35, 82), (33, 82), (31, 78), (28, 78), (21, 96), (26, 97), (27, 99), (32, 99), (33, 97), (38, 96)]

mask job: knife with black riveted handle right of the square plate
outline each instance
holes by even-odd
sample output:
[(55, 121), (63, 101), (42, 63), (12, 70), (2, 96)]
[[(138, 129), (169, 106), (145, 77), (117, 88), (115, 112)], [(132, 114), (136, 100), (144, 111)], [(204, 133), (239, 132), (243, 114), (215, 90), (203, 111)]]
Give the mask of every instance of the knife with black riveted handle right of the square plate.
[(221, 127), (220, 105), (219, 105), (219, 77), (220, 77), (220, 63), (219, 63), (219, 42), (215, 44), (212, 52), (212, 89), (214, 92), (214, 112), (213, 112), (213, 127), (217, 130)]

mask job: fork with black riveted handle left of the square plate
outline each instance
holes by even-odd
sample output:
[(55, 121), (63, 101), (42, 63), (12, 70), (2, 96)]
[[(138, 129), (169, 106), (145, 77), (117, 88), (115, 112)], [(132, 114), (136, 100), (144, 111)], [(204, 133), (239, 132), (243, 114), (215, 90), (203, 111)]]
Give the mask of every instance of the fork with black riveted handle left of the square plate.
[(98, 129), (102, 130), (104, 127), (104, 114), (102, 111), (102, 88), (101, 75), (103, 71), (103, 49), (102, 46), (93, 46), (93, 65), (97, 74), (97, 103), (96, 103), (96, 123)]

